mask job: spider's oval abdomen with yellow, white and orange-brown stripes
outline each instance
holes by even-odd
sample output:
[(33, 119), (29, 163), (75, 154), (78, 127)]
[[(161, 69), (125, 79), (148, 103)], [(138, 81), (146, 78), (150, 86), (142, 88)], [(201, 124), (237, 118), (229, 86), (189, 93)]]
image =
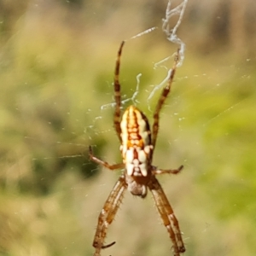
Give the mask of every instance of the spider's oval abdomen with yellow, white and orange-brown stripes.
[(130, 106), (123, 114), (120, 128), (120, 150), (127, 174), (147, 177), (153, 151), (147, 117), (138, 108)]

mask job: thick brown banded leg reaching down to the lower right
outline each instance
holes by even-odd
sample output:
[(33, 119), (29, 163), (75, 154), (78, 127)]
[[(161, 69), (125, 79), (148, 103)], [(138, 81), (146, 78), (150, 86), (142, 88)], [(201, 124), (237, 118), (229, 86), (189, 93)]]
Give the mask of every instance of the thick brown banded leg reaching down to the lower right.
[(180, 253), (184, 253), (186, 249), (183, 245), (183, 238), (179, 230), (177, 218), (175, 217), (172, 207), (166, 198), (165, 192), (155, 177), (152, 177), (152, 182), (148, 184), (148, 187), (153, 195), (160, 217), (162, 218), (172, 240), (174, 255), (179, 256)]

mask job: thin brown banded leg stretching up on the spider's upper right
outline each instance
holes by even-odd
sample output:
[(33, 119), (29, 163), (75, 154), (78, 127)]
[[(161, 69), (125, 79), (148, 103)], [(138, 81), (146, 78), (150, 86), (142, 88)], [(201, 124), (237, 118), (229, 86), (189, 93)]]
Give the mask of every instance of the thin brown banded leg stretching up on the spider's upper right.
[(175, 61), (174, 61), (174, 65), (172, 67), (172, 70), (170, 72), (168, 83), (167, 83), (166, 87), (162, 90), (162, 93), (160, 95), (160, 98), (159, 98), (158, 103), (157, 103), (157, 105), (155, 107), (155, 110), (154, 110), (154, 115), (153, 115), (154, 123), (153, 123), (153, 126), (152, 126), (152, 145), (153, 145), (153, 147), (155, 146), (156, 138), (157, 138), (157, 134), (158, 134), (158, 130), (159, 130), (160, 110), (163, 107), (163, 105), (166, 101), (166, 97), (168, 96), (168, 94), (171, 90), (173, 78), (174, 78), (174, 75), (175, 75), (175, 72), (176, 72), (178, 59), (179, 59), (179, 49), (177, 49), (177, 55), (175, 57)]

